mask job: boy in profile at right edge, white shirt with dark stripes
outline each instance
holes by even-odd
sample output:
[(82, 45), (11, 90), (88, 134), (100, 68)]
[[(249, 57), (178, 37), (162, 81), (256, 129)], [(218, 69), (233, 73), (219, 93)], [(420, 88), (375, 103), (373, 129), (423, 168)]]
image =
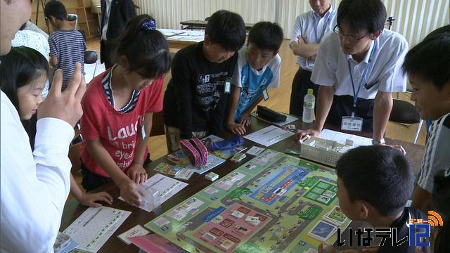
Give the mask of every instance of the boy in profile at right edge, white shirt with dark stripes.
[(427, 212), (433, 176), (450, 164), (450, 25), (428, 34), (406, 54), (403, 70), (413, 87), (411, 100), (422, 119), (433, 120), (419, 171), (413, 206)]

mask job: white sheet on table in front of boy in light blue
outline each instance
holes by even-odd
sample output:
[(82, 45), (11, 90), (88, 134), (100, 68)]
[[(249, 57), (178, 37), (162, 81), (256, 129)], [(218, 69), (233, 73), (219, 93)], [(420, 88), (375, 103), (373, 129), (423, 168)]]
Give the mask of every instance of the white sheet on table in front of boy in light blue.
[(285, 131), (277, 126), (271, 125), (264, 129), (255, 131), (255, 133), (248, 134), (244, 136), (244, 138), (269, 147), (269, 145), (278, 143), (278, 141), (283, 141), (285, 138), (293, 135), (293, 132)]

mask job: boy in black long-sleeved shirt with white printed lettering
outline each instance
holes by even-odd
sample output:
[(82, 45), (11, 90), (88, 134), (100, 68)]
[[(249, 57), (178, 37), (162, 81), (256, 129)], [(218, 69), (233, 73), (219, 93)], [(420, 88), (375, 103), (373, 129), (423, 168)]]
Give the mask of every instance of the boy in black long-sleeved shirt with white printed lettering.
[(205, 40), (176, 53), (163, 106), (169, 152), (179, 148), (180, 139), (223, 130), (236, 51), (244, 43), (240, 15), (217, 11), (207, 22)]

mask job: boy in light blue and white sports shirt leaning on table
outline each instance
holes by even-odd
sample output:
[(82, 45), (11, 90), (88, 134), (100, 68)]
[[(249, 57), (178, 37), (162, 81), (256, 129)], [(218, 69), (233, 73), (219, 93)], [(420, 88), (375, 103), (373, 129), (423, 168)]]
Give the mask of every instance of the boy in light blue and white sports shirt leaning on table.
[(266, 89), (280, 86), (278, 50), (282, 42), (283, 29), (278, 24), (257, 22), (248, 33), (247, 46), (238, 51), (227, 117), (227, 128), (233, 134), (245, 134), (250, 113), (264, 96), (264, 100), (269, 98)]

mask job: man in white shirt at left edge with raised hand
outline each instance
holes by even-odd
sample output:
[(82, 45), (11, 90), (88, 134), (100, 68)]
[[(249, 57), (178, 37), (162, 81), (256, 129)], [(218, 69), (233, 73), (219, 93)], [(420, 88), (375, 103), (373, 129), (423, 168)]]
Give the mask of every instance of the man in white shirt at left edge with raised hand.
[[(30, 0), (0, 0), (0, 56), (11, 50), (15, 32), (30, 15)], [(0, 91), (0, 252), (53, 252), (70, 190), (69, 143), (86, 91), (79, 64), (63, 92), (62, 81), (58, 71), (49, 96), (39, 105), (34, 152), (18, 111)]]

